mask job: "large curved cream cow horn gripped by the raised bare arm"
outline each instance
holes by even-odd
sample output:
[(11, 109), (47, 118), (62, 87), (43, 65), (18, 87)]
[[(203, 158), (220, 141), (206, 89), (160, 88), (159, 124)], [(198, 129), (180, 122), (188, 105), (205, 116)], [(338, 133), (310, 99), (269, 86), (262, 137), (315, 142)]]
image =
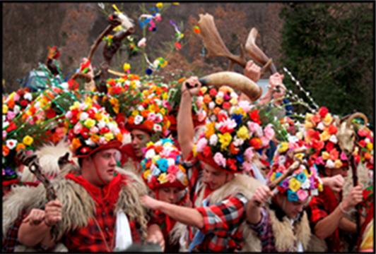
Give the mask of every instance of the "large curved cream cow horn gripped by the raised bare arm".
[(202, 85), (214, 85), (216, 87), (228, 85), (229, 87), (244, 92), (253, 102), (262, 95), (262, 87), (259, 87), (245, 75), (232, 71), (221, 71), (209, 74), (200, 78), (199, 81)]

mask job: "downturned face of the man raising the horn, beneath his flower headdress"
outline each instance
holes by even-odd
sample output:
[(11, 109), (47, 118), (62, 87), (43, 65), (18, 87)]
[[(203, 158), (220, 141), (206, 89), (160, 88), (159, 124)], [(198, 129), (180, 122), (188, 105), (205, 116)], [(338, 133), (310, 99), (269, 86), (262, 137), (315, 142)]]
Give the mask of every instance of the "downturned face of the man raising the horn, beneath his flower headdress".
[(201, 163), (201, 168), (204, 170), (204, 183), (206, 183), (206, 186), (212, 191), (215, 191), (223, 186), (223, 184), (233, 179), (233, 174), (211, 167), (211, 165), (204, 162)]

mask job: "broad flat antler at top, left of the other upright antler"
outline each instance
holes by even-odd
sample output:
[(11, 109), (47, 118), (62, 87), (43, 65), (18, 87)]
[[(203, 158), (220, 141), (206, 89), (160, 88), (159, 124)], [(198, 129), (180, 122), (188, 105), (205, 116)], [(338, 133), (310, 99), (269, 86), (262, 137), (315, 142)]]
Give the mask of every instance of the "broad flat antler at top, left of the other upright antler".
[(199, 28), (201, 30), (200, 35), (206, 49), (208, 50), (208, 57), (225, 56), (233, 63), (237, 63), (244, 68), (247, 61), (245, 60), (244, 52), (242, 52), (242, 47), (240, 48), (240, 56), (231, 54), (231, 52), (223, 43), (221, 35), (216, 28), (216, 23), (214, 23), (213, 16), (208, 13), (206, 13), (205, 15), (200, 14), (199, 16)]

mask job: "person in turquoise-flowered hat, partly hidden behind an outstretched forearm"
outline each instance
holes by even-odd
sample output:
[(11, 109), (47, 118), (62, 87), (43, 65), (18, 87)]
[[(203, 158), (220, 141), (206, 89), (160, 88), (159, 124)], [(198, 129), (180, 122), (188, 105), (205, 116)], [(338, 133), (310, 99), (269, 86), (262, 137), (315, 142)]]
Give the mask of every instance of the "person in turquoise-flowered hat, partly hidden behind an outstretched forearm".
[[(148, 143), (141, 162), (143, 180), (157, 200), (191, 206), (187, 191), (187, 173), (182, 166), (181, 152), (169, 138)], [(186, 251), (180, 246), (187, 227), (159, 210), (153, 211), (151, 222), (158, 224), (165, 238), (165, 252)]]

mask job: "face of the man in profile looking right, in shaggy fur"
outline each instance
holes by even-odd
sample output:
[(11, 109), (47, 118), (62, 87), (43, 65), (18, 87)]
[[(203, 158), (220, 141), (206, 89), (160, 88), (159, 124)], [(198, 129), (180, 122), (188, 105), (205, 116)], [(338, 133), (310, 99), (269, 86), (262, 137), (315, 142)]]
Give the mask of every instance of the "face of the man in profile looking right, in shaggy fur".
[[(95, 174), (94, 181), (105, 184), (110, 183), (114, 178), (114, 171), (117, 161), (120, 158), (120, 152), (116, 149), (101, 150), (92, 156), (93, 163), (95, 163), (98, 174)], [(93, 165), (93, 167), (95, 167)], [(94, 168), (93, 168), (94, 169)], [(93, 174), (94, 176), (94, 174)]]

